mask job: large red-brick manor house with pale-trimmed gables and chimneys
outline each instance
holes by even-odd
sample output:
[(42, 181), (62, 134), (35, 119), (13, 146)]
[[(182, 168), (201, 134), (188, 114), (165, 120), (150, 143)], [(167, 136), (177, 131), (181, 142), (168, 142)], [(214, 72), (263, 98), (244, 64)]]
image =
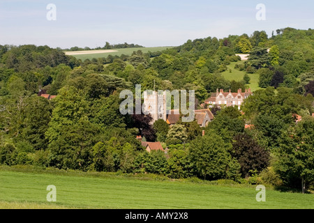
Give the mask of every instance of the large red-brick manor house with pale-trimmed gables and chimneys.
[(217, 107), (220, 107), (221, 105), (225, 105), (227, 107), (234, 107), (238, 106), (240, 109), (240, 106), (244, 102), (244, 99), (248, 98), (248, 96), (252, 95), (251, 89), (246, 89), (245, 92), (242, 92), (241, 89), (239, 89), (236, 93), (231, 92), (223, 92), (223, 89), (220, 89), (220, 91), (216, 91), (216, 93), (211, 93), (211, 97), (205, 100), (205, 105), (209, 105), (209, 107), (214, 107), (215, 105)]

